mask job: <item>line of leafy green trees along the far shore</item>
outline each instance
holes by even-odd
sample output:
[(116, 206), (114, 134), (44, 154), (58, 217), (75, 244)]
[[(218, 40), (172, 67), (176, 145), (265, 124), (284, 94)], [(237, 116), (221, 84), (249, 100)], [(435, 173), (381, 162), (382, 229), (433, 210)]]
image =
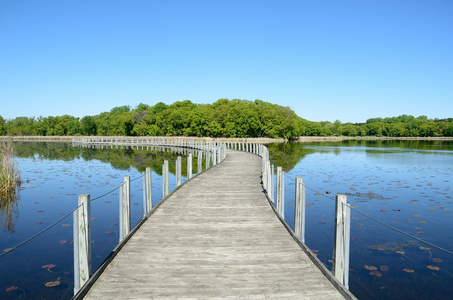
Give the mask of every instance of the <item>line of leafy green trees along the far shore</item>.
[(76, 118), (0, 116), (0, 135), (38, 136), (210, 136), (270, 137), (297, 139), (299, 136), (453, 136), (453, 118), (428, 119), (401, 115), (372, 118), (366, 123), (311, 122), (288, 107), (269, 102), (219, 99), (213, 104), (189, 100), (167, 105), (139, 104), (114, 107), (99, 115)]

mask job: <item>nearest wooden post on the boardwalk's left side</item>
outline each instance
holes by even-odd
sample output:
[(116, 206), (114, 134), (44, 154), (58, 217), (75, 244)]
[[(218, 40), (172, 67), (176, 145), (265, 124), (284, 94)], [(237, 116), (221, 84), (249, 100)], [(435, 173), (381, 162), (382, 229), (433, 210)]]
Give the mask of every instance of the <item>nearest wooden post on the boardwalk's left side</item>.
[[(79, 195), (79, 208), (74, 216), (74, 293), (78, 292), (91, 275), (91, 230), (90, 230), (90, 195)], [(77, 263), (77, 266), (75, 265)], [(77, 273), (76, 273), (77, 272)]]

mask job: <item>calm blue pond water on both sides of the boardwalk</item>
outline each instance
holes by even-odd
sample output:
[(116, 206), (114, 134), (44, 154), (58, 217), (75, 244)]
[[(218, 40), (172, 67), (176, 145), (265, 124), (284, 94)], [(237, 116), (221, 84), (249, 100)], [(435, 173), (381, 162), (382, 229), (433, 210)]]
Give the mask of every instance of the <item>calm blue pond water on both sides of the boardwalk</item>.
[[(122, 177), (135, 179), (131, 182), (135, 225), (143, 214), (140, 172), (145, 166), (153, 168), (153, 202), (157, 203), (162, 193), (163, 160), (168, 159), (174, 168), (172, 162), (177, 157), (172, 153), (77, 149), (54, 143), (21, 143), (17, 148), (22, 179), (27, 182), (17, 206), (8, 213), (13, 222), (7, 226), (5, 213), (0, 216), (0, 249), (13, 247), (64, 218), (77, 206), (77, 195), (89, 193), (94, 199), (107, 194), (92, 202), (94, 269), (118, 242), (117, 188)], [(290, 225), (294, 222), (292, 179), (304, 178), (308, 187), (306, 243), (318, 251), (329, 268), (335, 207), (332, 199), (336, 193), (347, 194), (348, 202), (370, 217), (453, 250), (453, 143), (274, 144), (269, 149), (275, 165), (283, 166), (286, 172), (285, 216)], [(174, 185), (171, 176), (170, 187)], [(359, 299), (451, 299), (453, 255), (360, 212), (352, 212), (350, 265), (350, 290)], [(42, 268), (49, 264), (55, 267)], [(72, 264), (69, 215), (0, 257), (0, 299), (70, 299)], [(376, 267), (381, 276), (370, 275), (364, 266)], [(59, 286), (45, 286), (56, 280), (61, 282)], [(7, 292), (12, 286), (17, 289)]]

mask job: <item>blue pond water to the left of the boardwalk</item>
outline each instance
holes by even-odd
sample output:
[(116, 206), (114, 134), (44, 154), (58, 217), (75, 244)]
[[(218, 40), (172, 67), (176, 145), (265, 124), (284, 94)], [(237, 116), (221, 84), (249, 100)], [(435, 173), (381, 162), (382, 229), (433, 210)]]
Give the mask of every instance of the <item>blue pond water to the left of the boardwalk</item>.
[[(74, 148), (66, 143), (23, 142), (16, 143), (15, 148), (23, 184), (15, 205), (0, 212), (3, 255), (0, 299), (71, 299), (74, 282), (71, 212), (77, 207), (78, 195), (90, 194), (92, 199), (91, 251), (95, 270), (118, 244), (118, 189), (123, 176), (131, 178), (131, 227), (134, 227), (144, 212), (141, 172), (146, 167), (152, 168), (156, 205), (162, 199), (162, 163), (168, 160), (174, 174), (178, 156), (160, 151)], [(183, 156), (182, 174), (186, 174), (186, 163)], [(172, 174), (170, 191), (176, 185)], [(8, 252), (24, 241), (25, 244)], [(56, 281), (58, 286), (52, 287)]]

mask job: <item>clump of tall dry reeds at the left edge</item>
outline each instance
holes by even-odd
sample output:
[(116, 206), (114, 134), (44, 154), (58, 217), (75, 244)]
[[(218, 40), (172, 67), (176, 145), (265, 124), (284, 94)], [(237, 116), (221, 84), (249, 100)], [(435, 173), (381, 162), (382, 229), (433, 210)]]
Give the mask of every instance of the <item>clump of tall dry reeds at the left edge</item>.
[(21, 180), (11, 140), (3, 141), (0, 144), (0, 155), (0, 201), (15, 201), (18, 197)]

